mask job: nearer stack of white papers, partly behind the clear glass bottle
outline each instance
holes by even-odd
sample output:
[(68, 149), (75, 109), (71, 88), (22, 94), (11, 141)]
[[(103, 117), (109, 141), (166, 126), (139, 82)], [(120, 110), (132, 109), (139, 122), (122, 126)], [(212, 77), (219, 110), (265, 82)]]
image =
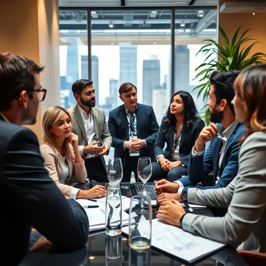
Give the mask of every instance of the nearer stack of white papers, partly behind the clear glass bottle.
[[(89, 230), (101, 230), (105, 228), (105, 202), (98, 201), (88, 201), (85, 199), (78, 199), (76, 200), (81, 206), (88, 206), (88, 205), (98, 205), (98, 208), (84, 208), (88, 219), (89, 219)], [(128, 225), (129, 215), (122, 211), (122, 226)]]

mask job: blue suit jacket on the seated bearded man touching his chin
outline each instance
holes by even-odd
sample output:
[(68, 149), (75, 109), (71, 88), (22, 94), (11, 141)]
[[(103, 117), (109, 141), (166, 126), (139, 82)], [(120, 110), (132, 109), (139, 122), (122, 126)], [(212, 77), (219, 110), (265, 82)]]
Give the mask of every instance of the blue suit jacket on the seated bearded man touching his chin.
[[(218, 130), (222, 127), (218, 125)], [(239, 139), (245, 132), (243, 124), (238, 124), (231, 135), (225, 147), (225, 152), (222, 159), (222, 164), (219, 172), (219, 181), (217, 180), (217, 165), (219, 163), (219, 146), (221, 140), (219, 138), (212, 139), (209, 147), (204, 152), (204, 155), (192, 157), (190, 156), (188, 166), (188, 176), (178, 179), (184, 185), (184, 190), (196, 186), (204, 178), (213, 171), (213, 186), (199, 187), (199, 189), (213, 189), (226, 187), (235, 177), (238, 172), (238, 153), (240, 149)]]

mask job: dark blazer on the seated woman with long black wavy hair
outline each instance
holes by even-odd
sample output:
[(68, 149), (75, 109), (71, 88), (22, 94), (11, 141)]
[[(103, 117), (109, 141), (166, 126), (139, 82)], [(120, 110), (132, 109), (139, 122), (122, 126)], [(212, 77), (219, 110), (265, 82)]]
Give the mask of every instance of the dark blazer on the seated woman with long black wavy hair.
[[(154, 144), (155, 158), (157, 158), (160, 154), (163, 154), (164, 157), (166, 158), (169, 155), (169, 152), (171, 152), (173, 146), (176, 125), (164, 131), (165, 119), (166, 117), (163, 117)], [(192, 127), (189, 130), (184, 128), (184, 130), (182, 131), (182, 135), (180, 138), (180, 145), (179, 145), (179, 155), (181, 159), (179, 159), (179, 161), (181, 161), (186, 167), (188, 167), (190, 152), (193, 146), (195, 145), (195, 142), (198, 139), (198, 136), (200, 135), (200, 132), (203, 127), (204, 127), (204, 122), (200, 118), (195, 117), (192, 119)], [(167, 147), (163, 151), (165, 142), (167, 144)]]

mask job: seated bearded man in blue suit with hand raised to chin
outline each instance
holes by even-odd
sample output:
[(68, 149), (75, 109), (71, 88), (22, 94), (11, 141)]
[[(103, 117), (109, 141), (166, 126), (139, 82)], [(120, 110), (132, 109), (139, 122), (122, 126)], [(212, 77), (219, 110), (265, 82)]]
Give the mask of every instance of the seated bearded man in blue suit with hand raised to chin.
[[(179, 197), (186, 200), (189, 197), (188, 188), (195, 187), (212, 171), (212, 185), (199, 189), (223, 188), (235, 178), (238, 172), (239, 139), (245, 132), (244, 125), (235, 121), (234, 107), (231, 103), (235, 95), (233, 83), (239, 73), (240, 71), (231, 70), (214, 71), (211, 74), (212, 86), (207, 105), (212, 123), (202, 129), (192, 148), (188, 176), (174, 183), (160, 180), (155, 184), (158, 186), (157, 194), (177, 192), (175, 195), (163, 193), (158, 197), (158, 203)], [(210, 145), (204, 152), (204, 145), (209, 141)]]

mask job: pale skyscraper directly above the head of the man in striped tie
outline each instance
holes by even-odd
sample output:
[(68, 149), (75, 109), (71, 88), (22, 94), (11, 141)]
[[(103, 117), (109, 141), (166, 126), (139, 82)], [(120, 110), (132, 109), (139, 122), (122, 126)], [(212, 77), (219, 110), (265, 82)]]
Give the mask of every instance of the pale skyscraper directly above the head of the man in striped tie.
[(119, 43), (120, 54), (120, 85), (131, 82), (137, 85), (137, 45), (131, 43)]

